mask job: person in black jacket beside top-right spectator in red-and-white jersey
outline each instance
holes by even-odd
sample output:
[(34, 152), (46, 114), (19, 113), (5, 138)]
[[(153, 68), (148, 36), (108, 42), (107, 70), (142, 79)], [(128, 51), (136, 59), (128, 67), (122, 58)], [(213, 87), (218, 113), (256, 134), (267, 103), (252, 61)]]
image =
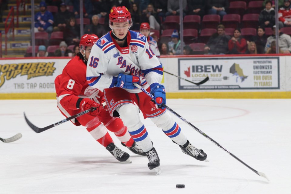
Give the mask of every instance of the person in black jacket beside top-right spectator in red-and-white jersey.
[(275, 9), (272, 8), (272, 1), (266, 2), (266, 8), (263, 9), (259, 16), (259, 26), (272, 28), (275, 25)]

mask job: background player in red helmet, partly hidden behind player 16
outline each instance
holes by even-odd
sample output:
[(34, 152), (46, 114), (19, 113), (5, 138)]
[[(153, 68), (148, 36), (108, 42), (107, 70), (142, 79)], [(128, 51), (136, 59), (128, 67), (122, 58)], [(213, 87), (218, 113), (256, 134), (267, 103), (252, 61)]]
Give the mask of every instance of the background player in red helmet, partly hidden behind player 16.
[[(150, 31), (150, 27), (149, 27), (149, 23), (144, 22), (140, 24), (139, 27), (139, 32), (144, 35), (149, 43), (149, 47), (151, 47), (152, 51), (155, 53), (156, 57), (159, 59), (160, 61), (160, 51), (158, 48), (158, 44), (155, 40), (155, 38), (152, 38), (152, 36), (149, 35)], [(160, 61), (161, 62), (161, 61)]]

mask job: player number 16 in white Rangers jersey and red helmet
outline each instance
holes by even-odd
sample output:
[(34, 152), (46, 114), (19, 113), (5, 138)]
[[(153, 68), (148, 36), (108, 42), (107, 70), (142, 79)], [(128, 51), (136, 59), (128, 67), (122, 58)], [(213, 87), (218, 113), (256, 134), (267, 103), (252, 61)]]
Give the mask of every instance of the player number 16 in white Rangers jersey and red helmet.
[[(162, 107), (166, 104), (166, 91), (161, 85), (163, 69), (144, 35), (129, 30), (131, 15), (127, 8), (113, 7), (109, 14), (109, 33), (92, 47), (87, 64), (86, 79), (90, 86), (104, 89), (105, 101), (112, 116), (122, 119), (124, 125), (140, 148), (146, 152), (149, 169), (160, 173), (160, 160), (145, 126), (140, 121), (139, 110), (150, 118), (163, 132), (179, 145), (182, 152), (197, 160), (206, 160), (203, 150), (192, 146), (179, 125)], [(155, 97), (151, 98), (137, 89), (138, 83)]]

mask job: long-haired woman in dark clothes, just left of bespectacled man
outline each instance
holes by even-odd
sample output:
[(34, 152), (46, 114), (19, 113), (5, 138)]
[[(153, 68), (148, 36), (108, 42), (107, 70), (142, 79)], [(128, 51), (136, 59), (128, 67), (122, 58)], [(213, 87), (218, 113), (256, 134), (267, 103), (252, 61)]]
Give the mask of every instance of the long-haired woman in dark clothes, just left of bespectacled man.
[(79, 45), (80, 41), (80, 28), (76, 24), (75, 18), (70, 18), (69, 25), (65, 28), (65, 41), (68, 45)]

